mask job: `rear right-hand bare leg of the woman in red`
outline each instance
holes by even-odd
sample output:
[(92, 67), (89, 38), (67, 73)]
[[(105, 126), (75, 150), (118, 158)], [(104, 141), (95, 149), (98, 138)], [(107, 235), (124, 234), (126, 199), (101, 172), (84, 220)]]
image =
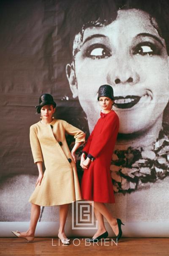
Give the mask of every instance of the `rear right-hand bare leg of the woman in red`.
[(106, 218), (112, 230), (114, 231), (114, 234), (117, 236), (119, 234), (117, 219), (112, 216), (112, 214), (109, 212), (109, 210), (103, 203), (94, 202), (94, 208), (98, 210), (98, 212), (100, 212)]

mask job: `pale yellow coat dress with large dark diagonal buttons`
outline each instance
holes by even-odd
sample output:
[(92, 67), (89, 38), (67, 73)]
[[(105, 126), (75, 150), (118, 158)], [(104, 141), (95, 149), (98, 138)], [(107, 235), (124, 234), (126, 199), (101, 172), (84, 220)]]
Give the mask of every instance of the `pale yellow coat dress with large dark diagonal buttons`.
[[(61, 119), (50, 124), (41, 121), (30, 127), (30, 146), (34, 162), (45, 165), (41, 185), (37, 185), (29, 202), (40, 206), (69, 204), (82, 199), (76, 164), (65, 139), (74, 135), (75, 143), (85, 142), (85, 133)], [(71, 159), (71, 160), (70, 160)]]

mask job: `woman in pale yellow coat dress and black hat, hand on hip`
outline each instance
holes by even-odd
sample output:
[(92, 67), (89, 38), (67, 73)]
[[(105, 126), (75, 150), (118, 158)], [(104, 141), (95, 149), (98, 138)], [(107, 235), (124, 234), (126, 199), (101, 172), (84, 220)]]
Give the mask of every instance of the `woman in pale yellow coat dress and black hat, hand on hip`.
[[(30, 146), (39, 176), (35, 190), (29, 198), (31, 206), (30, 227), (26, 232), (12, 231), (16, 237), (34, 240), (40, 206), (60, 205), (60, 226), (58, 237), (61, 242), (69, 244), (64, 232), (68, 214), (68, 204), (81, 200), (81, 192), (76, 171), (75, 151), (85, 142), (85, 133), (61, 119), (54, 119), (56, 103), (52, 95), (42, 94), (39, 98), (37, 112), (41, 121), (30, 127)], [(74, 135), (75, 144), (69, 150), (65, 132)], [(42, 170), (42, 162), (45, 171)]]

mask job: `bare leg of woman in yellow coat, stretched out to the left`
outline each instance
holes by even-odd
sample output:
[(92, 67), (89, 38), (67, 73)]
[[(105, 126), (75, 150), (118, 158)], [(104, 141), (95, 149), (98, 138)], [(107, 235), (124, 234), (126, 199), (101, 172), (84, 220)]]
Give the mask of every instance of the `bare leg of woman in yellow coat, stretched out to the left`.
[(31, 205), (31, 212), (30, 212), (30, 226), (27, 231), (20, 232), (21, 236), (23, 237), (34, 237), (35, 236), (35, 229), (39, 219), (39, 215), (41, 212), (41, 206), (37, 204)]

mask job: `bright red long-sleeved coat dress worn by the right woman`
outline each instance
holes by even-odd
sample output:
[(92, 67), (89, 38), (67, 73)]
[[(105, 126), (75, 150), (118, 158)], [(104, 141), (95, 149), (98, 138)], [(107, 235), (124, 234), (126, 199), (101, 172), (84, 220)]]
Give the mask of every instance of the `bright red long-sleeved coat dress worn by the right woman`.
[(111, 110), (101, 113), (83, 152), (95, 158), (84, 169), (81, 182), (82, 198), (101, 203), (115, 203), (110, 164), (119, 130), (119, 118)]

